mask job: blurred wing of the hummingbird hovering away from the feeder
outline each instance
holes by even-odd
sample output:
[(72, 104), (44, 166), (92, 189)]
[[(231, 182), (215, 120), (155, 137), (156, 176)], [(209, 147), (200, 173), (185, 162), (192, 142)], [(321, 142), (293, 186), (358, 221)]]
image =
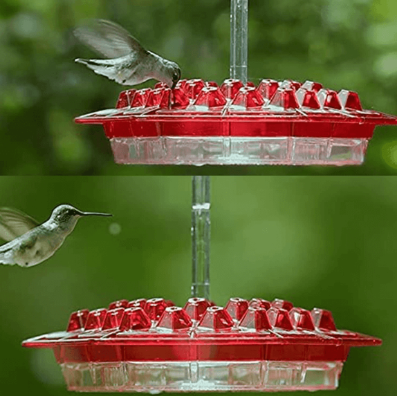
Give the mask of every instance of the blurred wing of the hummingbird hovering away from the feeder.
[(8, 207), (0, 207), (0, 238), (12, 241), (37, 227), (37, 221), (24, 212)]

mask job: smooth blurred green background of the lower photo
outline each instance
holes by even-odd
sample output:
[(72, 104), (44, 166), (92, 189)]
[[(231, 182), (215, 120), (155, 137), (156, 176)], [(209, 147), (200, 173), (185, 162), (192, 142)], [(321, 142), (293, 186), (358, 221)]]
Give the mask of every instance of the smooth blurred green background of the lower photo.
[[(1, 205), (39, 221), (60, 203), (83, 218), (59, 251), (0, 267), (0, 394), (67, 395), (50, 350), (21, 341), (66, 328), (79, 308), (190, 294), (189, 177), (3, 177)], [(334, 395), (396, 395), (397, 178), (213, 177), (212, 299), (275, 297), (333, 312), (383, 339), (352, 348)], [(322, 393), (319, 393), (322, 394)], [(330, 393), (324, 393), (330, 394)]]

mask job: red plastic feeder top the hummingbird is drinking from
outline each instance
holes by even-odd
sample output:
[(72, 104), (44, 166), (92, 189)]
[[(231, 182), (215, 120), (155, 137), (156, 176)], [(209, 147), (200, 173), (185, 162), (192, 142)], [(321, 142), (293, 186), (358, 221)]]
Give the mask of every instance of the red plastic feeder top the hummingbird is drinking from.
[(240, 136), (371, 138), (380, 124), (397, 124), (397, 117), (362, 110), (355, 92), (263, 79), (245, 86), (226, 79), (221, 86), (202, 79), (181, 80), (174, 90), (154, 88), (120, 93), (116, 109), (75, 119), (102, 124), (108, 138), (158, 136)]

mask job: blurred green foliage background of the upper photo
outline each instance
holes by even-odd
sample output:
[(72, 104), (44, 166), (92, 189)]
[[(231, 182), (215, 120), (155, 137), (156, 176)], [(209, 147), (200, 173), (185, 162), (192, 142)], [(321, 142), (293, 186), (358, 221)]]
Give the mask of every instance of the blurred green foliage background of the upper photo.
[[(95, 57), (71, 35), (85, 19), (111, 19), (181, 65), (183, 77), (229, 75), (228, 0), (1, 0), (0, 174), (396, 174), (397, 127), (378, 128), (362, 167), (122, 167), (101, 126), (77, 115), (113, 107), (122, 90), (76, 57)], [(395, 0), (250, 1), (253, 82), (312, 79), (397, 114)], [(153, 86), (148, 82), (143, 86)]]

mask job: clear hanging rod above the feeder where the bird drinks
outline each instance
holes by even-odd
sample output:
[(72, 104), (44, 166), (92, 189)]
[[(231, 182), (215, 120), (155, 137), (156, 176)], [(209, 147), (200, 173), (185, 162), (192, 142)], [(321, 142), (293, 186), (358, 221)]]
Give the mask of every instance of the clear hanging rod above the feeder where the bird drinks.
[(230, 78), (247, 82), (248, 0), (230, 1)]

